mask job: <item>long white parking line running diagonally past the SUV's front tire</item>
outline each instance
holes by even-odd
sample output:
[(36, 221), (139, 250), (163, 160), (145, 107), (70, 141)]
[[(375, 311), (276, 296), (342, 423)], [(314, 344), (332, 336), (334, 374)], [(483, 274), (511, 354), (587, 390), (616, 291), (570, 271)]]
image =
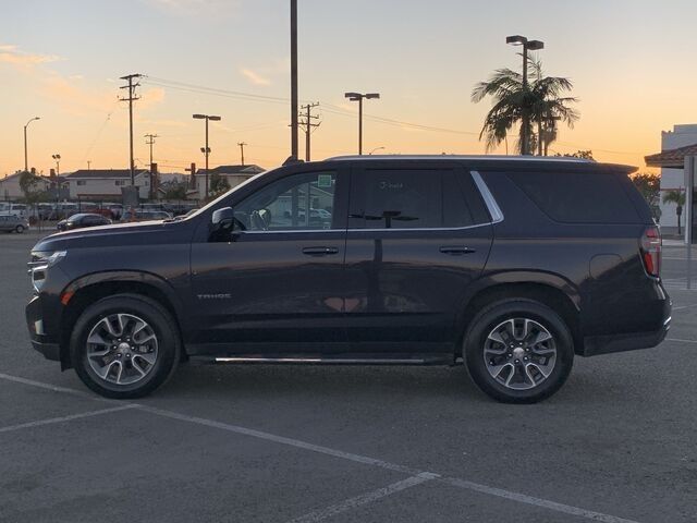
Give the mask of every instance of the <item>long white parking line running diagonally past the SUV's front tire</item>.
[[(674, 341), (687, 341), (687, 340), (674, 340)], [(64, 387), (56, 387), (52, 386), (50, 384), (44, 384), (41, 381), (34, 381), (32, 379), (26, 379), (26, 378), (21, 378), (19, 376), (11, 376), (8, 374), (3, 374), (0, 373), (0, 379), (7, 379), (10, 381), (15, 381), (19, 384), (24, 384), (24, 385), (28, 385), (28, 386), (33, 386), (33, 387), (40, 387), (42, 389), (48, 389), (48, 390), (53, 390), (53, 391), (58, 391), (58, 392), (65, 392), (65, 393), (70, 393), (73, 396), (80, 396), (80, 397), (87, 397), (91, 400), (96, 400), (96, 401), (112, 401), (112, 400), (105, 400), (103, 398), (99, 398), (96, 396), (89, 396), (89, 394), (85, 394), (78, 390), (75, 389), (69, 389), (69, 388), (64, 388)], [(154, 406), (148, 406), (148, 405), (143, 405), (139, 403), (130, 403), (129, 405), (124, 405), (127, 408), (131, 406), (138, 406), (138, 411), (139, 412), (150, 412), (151, 414), (156, 414), (156, 415), (160, 415), (163, 417), (169, 417), (172, 419), (179, 419), (182, 422), (187, 422), (187, 423), (194, 423), (197, 425), (203, 425), (206, 427), (212, 427), (212, 428), (219, 428), (221, 430), (227, 430), (230, 433), (235, 433), (235, 434), (241, 434), (241, 435), (245, 435), (245, 436), (250, 436), (254, 438), (259, 438), (259, 439), (264, 439), (267, 441), (273, 441), (277, 443), (281, 443), (281, 445), (288, 445), (291, 447), (295, 447), (295, 448), (299, 448), (299, 449), (304, 449), (304, 450), (309, 450), (311, 452), (318, 452), (321, 454), (327, 454), (327, 455), (333, 455), (335, 458), (340, 458), (343, 460), (348, 460), (348, 461), (353, 461), (353, 462), (357, 462), (357, 463), (364, 463), (366, 465), (372, 465), (372, 466), (378, 466), (380, 469), (387, 469), (389, 471), (395, 471), (395, 472), (402, 472), (405, 474), (408, 474), (412, 477), (421, 477), (424, 474), (427, 475), (433, 475), (433, 476), (438, 476), (435, 473), (431, 472), (426, 472), (426, 471), (418, 471), (415, 469), (411, 469), (408, 466), (403, 466), (403, 465), (398, 465), (395, 463), (389, 463), (387, 461), (382, 461), (382, 460), (376, 460), (374, 458), (368, 458), (365, 455), (360, 455), (360, 454), (354, 454), (351, 452), (344, 452), (341, 450), (337, 450), (337, 449), (331, 449), (329, 447), (321, 447), (318, 445), (314, 445), (314, 443), (308, 443), (306, 441), (302, 441), (298, 439), (293, 439), (293, 438), (286, 438), (283, 436), (277, 436), (274, 434), (270, 434), (270, 433), (264, 433), (261, 430), (255, 430), (252, 428), (246, 428), (246, 427), (241, 427), (237, 425), (231, 425), (228, 423), (222, 423), (222, 422), (216, 422), (213, 419), (207, 419), (204, 417), (196, 417), (196, 416), (188, 416), (186, 414), (180, 414), (178, 412), (173, 412), (173, 411), (166, 411), (163, 409), (157, 409)], [(467, 490), (474, 490), (474, 491), (478, 491), (481, 494), (486, 494), (489, 496), (493, 496), (493, 497), (498, 497), (498, 498), (504, 498), (504, 499), (509, 499), (512, 501), (517, 501), (521, 503), (525, 503), (525, 504), (533, 504), (533, 506), (537, 506), (540, 508), (545, 508), (554, 512), (561, 512), (561, 513), (565, 513), (565, 514), (574, 514), (574, 515), (578, 515), (580, 518), (585, 518), (588, 520), (592, 520), (592, 521), (601, 521), (604, 523), (638, 523), (634, 520), (626, 520), (623, 518), (617, 518), (611, 514), (604, 514), (602, 512), (595, 512), (591, 510), (586, 510), (586, 509), (582, 509), (578, 507), (573, 507), (570, 504), (564, 504), (564, 503), (558, 503), (555, 501), (551, 501), (551, 500), (547, 500), (547, 499), (542, 499), (542, 498), (535, 498), (531, 496), (527, 496), (525, 494), (522, 492), (515, 492), (512, 490), (505, 490), (502, 488), (496, 488), (496, 487), (490, 487), (487, 485), (481, 485), (478, 483), (473, 483), (473, 482), (468, 482), (465, 479), (460, 479), (460, 478), (435, 478), (436, 481), (439, 482), (444, 482), (448, 485), (451, 486), (455, 486), (455, 487), (460, 487), (460, 488), (464, 488)], [(388, 488), (388, 487), (386, 487)], [(353, 499), (353, 498), (352, 498)]]

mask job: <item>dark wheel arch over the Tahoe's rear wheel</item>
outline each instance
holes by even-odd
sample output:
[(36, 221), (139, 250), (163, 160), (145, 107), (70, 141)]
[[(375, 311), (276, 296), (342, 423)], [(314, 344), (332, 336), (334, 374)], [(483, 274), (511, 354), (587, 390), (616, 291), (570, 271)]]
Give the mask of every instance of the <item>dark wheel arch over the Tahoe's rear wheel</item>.
[(574, 352), (583, 354), (580, 295), (577, 289), (553, 273), (505, 272), (496, 278), (479, 280), (473, 285), (457, 318), (461, 337), (455, 345), (456, 356), (461, 355), (465, 332), (477, 313), (491, 303), (513, 297), (534, 300), (552, 308), (568, 326), (574, 340)]

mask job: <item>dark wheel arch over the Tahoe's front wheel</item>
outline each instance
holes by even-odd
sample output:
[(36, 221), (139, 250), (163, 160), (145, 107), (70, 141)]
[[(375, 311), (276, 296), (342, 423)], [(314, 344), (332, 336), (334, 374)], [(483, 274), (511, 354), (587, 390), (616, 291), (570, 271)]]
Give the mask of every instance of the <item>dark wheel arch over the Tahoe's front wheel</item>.
[[(63, 311), (59, 343), (63, 370), (72, 367), (70, 338), (80, 315), (89, 304), (114, 294), (138, 294), (155, 300), (172, 315), (180, 329), (178, 336), (182, 338), (180, 325), (183, 318), (182, 303), (172, 285), (164, 279), (140, 271), (106, 271), (87, 275), (71, 282), (60, 295)], [(184, 354), (185, 351), (182, 351), (182, 356)]]

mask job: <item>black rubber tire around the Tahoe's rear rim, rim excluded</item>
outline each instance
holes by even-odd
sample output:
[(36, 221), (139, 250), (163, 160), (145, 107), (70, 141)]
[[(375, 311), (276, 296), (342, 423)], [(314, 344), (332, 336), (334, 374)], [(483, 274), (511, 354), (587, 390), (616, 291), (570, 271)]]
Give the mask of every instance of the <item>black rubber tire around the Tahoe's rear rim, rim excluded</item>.
[[(527, 376), (523, 374), (526, 370), (525, 363), (522, 361), (515, 363), (516, 360), (514, 360), (515, 354), (513, 352), (509, 353), (513, 354), (512, 357), (509, 357), (509, 354), (491, 356), (492, 353), (487, 352), (487, 357), (500, 357), (501, 360), (496, 360), (494, 362), (493, 358), (490, 361), (485, 358), (485, 345), (489, 335), (498, 326), (515, 318), (533, 320), (552, 337), (551, 343), (553, 343), (557, 352), (553, 367), (549, 375), (542, 379), (542, 373), (537, 373), (539, 367), (531, 366), (530, 374), (534, 375), (534, 378), (540, 379), (537, 384), (535, 384), (534, 379), (529, 379), (529, 374)], [(546, 343), (549, 346), (550, 342)], [(505, 349), (505, 344), (497, 345), (497, 342), (490, 346)], [(508, 351), (509, 349), (505, 349), (506, 353)], [(523, 352), (525, 349), (518, 349), (518, 351), (526, 360), (528, 358)], [(506, 357), (508, 360), (505, 360)], [(552, 396), (566, 381), (574, 362), (574, 341), (565, 321), (547, 305), (527, 299), (510, 299), (488, 305), (473, 319), (465, 333), (463, 358), (473, 381), (489, 397), (503, 403), (536, 403)], [(549, 361), (547, 362), (549, 363)], [(494, 363), (497, 365), (500, 363), (508, 365), (498, 375), (500, 379), (494, 378), (489, 372), (490, 367), (493, 370), (496, 368)], [(518, 380), (518, 384), (514, 385), (519, 387), (528, 386), (530, 388), (515, 390), (504, 385), (501, 381), (509, 376), (508, 373), (518, 373), (513, 376)]]

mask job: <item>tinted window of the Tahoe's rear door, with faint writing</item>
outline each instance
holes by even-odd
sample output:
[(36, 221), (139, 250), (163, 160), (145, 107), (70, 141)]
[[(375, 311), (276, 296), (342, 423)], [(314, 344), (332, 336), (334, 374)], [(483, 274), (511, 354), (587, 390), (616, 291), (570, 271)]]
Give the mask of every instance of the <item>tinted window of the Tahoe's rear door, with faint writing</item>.
[(490, 221), (469, 174), (452, 169), (366, 169), (354, 174), (351, 228), (450, 229)]

